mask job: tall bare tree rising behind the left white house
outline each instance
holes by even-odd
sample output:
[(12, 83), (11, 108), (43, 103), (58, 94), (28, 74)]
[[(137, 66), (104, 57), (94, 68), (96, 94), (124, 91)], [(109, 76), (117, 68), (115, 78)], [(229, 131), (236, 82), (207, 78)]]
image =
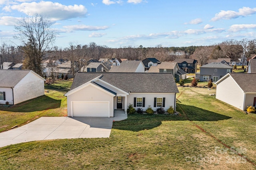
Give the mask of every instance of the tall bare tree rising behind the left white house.
[[(26, 57), (32, 57), (30, 62), (25, 63), (25, 67), (32, 69), (39, 75), (42, 75), (41, 62), (42, 57), (51, 51), (57, 32), (52, 29), (52, 22), (42, 15), (26, 16), (14, 26), (14, 38), (19, 40), (26, 49)], [(30, 53), (31, 52), (31, 53)], [(33, 65), (30, 65), (33, 63)], [(31, 67), (30, 67), (31, 66)], [(36, 70), (34, 70), (36, 68)]]

